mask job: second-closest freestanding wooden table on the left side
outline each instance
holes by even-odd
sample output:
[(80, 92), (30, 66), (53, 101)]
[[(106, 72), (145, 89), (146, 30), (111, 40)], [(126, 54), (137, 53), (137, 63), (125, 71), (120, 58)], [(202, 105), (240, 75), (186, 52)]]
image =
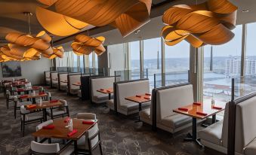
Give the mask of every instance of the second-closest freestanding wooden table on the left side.
[(60, 101), (57, 101), (57, 102), (43, 101), (41, 106), (37, 104), (35, 108), (31, 108), (31, 109), (26, 108), (26, 110), (34, 111), (34, 110), (42, 109), (44, 120), (46, 121), (47, 120), (46, 108), (57, 107), (60, 105), (63, 105), (63, 103)]

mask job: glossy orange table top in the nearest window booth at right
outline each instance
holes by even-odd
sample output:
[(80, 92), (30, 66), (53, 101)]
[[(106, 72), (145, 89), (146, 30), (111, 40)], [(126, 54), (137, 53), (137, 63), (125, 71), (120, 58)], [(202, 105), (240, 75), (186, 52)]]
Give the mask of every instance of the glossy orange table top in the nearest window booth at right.
[[(207, 99), (204, 102), (202, 102), (201, 105), (191, 104), (184, 107), (180, 107), (185, 109), (187, 108), (188, 111), (182, 111), (182, 110), (179, 110), (178, 108), (174, 109), (173, 111), (178, 114), (184, 114), (184, 115), (195, 117), (202, 120), (214, 114), (217, 114), (221, 111), (224, 111), (225, 105), (226, 105), (225, 102), (215, 101), (214, 107), (222, 108), (222, 109), (215, 109), (211, 106), (211, 100)], [(204, 113), (205, 115), (197, 114), (197, 112)]]

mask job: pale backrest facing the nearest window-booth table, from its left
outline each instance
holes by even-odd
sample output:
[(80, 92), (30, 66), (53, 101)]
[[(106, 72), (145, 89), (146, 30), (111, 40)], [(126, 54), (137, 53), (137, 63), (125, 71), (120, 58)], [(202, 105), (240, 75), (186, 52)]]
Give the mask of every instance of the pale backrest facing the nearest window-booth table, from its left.
[(180, 87), (170, 87), (156, 91), (156, 121), (174, 114), (175, 108), (190, 105), (194, 102), (193, 85), (187, 84)]

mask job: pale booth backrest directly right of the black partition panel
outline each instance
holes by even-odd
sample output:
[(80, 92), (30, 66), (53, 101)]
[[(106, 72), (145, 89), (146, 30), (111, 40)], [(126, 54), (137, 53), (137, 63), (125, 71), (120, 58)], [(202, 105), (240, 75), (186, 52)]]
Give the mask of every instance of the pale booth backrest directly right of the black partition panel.
[(99, 96), (100, 89), (113, 88), (115, 77), (91, 78), (91, 96)]

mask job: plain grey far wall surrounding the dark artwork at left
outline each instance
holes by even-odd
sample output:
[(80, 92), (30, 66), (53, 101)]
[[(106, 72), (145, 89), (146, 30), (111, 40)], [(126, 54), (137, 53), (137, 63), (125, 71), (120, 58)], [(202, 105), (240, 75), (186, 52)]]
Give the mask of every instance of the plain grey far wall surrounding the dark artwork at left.
[[(20, 62), (21, 77), (15, 78), (27, 78), (32, 84), (44, 84), (44, 71), (49, 71), (51, 67), (51, 59), (42, 58), (39, 60), (32, 60), (27, 62)], [(2, 64), (0, 66), (0, 78), (2, 78)]]

